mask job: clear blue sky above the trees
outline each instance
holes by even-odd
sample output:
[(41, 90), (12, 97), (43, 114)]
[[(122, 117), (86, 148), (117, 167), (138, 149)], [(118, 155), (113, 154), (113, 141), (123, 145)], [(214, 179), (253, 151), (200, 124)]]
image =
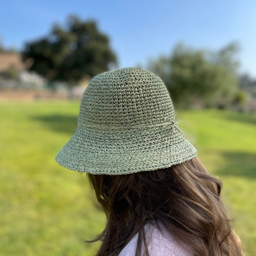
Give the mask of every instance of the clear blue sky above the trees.
[(149, 58), (171, 53), (178, 42), (217, 50), (237, 41), (240, 71), (256, 78), (255, 0), (8, 0), (0, 9), (2, 44), (22, 49), (69, 14), (97, 21), (120, 68), (146, 67)]

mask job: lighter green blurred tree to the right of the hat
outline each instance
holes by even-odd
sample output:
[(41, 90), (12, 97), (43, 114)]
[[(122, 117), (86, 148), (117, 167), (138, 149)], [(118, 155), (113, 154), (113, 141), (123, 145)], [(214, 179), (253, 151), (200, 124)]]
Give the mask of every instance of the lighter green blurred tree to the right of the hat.
[(149, 69), (166, 84), (174, 105), (225, 107), (238, 91), (235, 44), (210, 54), (178, 44), (170, 56), (151, 61)]

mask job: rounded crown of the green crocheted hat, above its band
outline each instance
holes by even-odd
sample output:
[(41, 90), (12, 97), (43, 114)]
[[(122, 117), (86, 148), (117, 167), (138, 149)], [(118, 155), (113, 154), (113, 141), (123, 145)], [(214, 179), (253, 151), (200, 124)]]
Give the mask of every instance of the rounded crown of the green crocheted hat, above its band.
[(85, 90), (78, 126), (131, 127), (174, 122), (163, 81), (150, 71), (123, 68), (95, 76)]

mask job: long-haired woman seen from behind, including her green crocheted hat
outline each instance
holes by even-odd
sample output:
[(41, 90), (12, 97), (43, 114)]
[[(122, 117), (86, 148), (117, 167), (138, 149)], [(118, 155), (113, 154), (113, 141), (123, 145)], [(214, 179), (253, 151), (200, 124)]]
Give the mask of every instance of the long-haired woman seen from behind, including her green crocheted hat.
[(196, 153), (158, 76), (124, 68), (91, 80), (56, 160), (88, 173), (106, 212), (98, 256), (243, 255), (221, 181)]

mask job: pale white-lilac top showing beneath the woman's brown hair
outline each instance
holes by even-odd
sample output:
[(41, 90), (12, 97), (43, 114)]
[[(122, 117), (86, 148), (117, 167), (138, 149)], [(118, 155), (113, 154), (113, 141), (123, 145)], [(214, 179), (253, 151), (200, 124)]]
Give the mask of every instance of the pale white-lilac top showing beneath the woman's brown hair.
[[(193, 256), (188, 247), (178, 243), (171, 234), (165, 230), (163, 225), (159, 225), (161, 231), (156, 225), (146, 224), (145, 235), (148, 243), (150, 256)], [(135, 256), (138, 234), (124, 247), (119, 256)], [(143, 255), (145, 247), (142, 247)]]

